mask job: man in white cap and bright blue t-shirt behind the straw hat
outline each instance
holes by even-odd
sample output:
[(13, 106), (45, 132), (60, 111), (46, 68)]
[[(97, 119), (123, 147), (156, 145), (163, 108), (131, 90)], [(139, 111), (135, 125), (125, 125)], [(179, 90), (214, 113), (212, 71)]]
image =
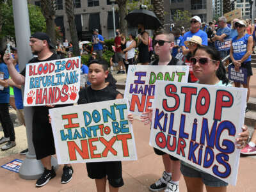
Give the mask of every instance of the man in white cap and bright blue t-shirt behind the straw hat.
[(185, 41), (188, 41), (192, 38), (192, 36), (200, 36), (202, 39), (202, 45), (208, 45), (208, 38), (207, 38), (207, 33), (205, 31), (200, 29), (201, 26), (201, 19), (198, 16), (194, 16), (190, 19), (190, 24), (191, 24), (191, 31), (188, 31), (187, 33), (184, 34), (183, 36), (183, 41), (182, 41), (182, 52), (184, 55), (188, 54), (189, 49), (186, 47), (184, 44)]

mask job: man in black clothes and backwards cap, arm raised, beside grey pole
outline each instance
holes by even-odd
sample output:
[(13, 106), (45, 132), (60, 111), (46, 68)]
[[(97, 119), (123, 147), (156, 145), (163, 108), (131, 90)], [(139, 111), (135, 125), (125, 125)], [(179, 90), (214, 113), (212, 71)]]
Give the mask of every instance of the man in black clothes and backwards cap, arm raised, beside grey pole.
[[(29, 45), (33, 54), (37, 58), (33, 58), (29, 63), (37, 63), (44, 61), (57, 60), (60, 58), (57, 54), (51, 51), (54, 45), (46, 33), (36, 32), (31, 35)], [(16, 84), (24, 84), (26, 76), (26, 67), (19, 74), (15, 70), (13, 58), (10, 54), (4, 54), (4, 62), (8, 66), (10, 76)], [(48, 110), (50, 106), (34, 107), (33, 123), (32, 123), (32, 140), (35, 147), (36, 159), (40, 160), (44, 165), (44, 173), (36, 181), (36, 187), (42, 187), (50, 179), (56, 176), (56, 173), (51, 165), (51, 156), (55, 154), (54, 139), (52, 136), (51, 124), (49, 124)], [(70, 164), (65, 164), (63, 167), (63, 175), (61, 183), (65, 184), (72, 179), (73, 169)]]

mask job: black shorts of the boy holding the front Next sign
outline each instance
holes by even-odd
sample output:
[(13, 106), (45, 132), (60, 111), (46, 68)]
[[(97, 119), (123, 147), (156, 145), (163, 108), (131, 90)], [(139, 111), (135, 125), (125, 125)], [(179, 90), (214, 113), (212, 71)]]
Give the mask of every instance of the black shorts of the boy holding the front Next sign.
[(114, 188), (120, 188), (124, 185), (121, 161), (86, 163), (86, 168), (88, 177), (91, 179), (107, 177), (109, 184)]

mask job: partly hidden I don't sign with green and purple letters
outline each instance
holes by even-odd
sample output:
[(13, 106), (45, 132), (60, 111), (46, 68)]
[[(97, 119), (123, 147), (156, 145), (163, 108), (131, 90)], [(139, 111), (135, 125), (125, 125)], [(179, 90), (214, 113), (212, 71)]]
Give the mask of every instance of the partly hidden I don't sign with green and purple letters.
[(140, 115), (152, 106), (156, 80), (188, 82), (188, 74), (186, 65), (129, 65), (124, 92), (129, 111)]

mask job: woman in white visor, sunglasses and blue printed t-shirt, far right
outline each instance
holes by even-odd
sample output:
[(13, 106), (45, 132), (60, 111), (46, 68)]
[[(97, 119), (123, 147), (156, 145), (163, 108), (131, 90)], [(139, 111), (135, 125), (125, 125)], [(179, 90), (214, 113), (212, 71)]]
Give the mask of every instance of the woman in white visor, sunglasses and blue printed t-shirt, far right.
[[(243, 20), (238, 20), (235, 24), (238, 35), (232, 39), (230, 47), (230, 59), (232, 65), (235, 66), (235, 70), (239, 71), (240, 67), (246, 68), (247, 70), (247, 83), (243, 83), (243, 87), (247, 88), (247, 99), (248, 102), (250, 97), (250, 77), (252, 76), (252, 65), (251, 65), (251, 54), (253, 38), (252, 35), (246, 33), (246, 23)], [(236, 87), (240, 87), (241, 83), (234, 82)], [(249, 109), (246, 106), (246, 112)]]

